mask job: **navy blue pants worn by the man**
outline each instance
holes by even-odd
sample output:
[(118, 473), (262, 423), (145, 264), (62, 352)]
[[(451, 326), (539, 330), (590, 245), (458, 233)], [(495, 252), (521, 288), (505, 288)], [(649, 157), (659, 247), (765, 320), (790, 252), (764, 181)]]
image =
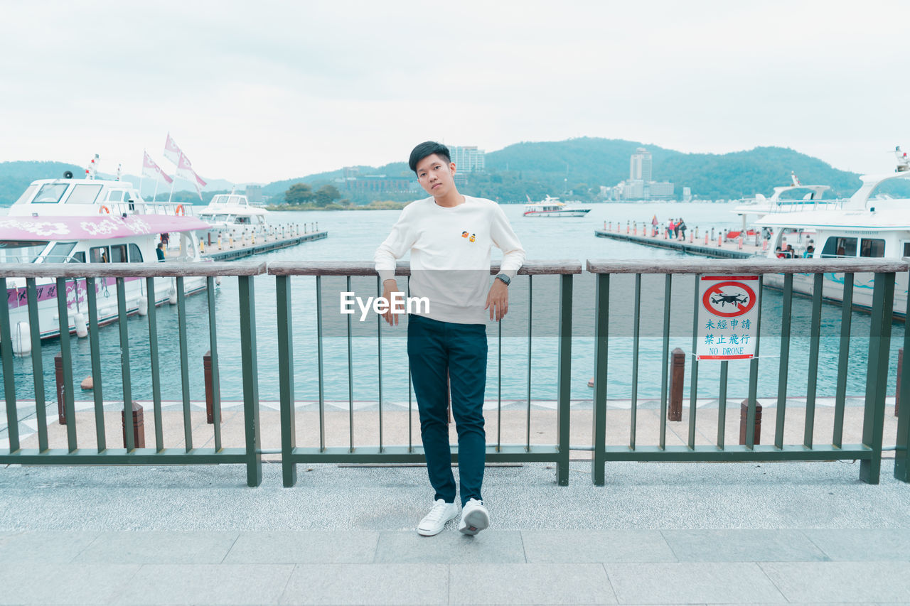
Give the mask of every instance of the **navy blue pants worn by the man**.
[(483, 391), (487, 384), (487, 327), (408, 317), (410, 376), (420, 410), (420, 437), (427, 456), (433, 500), (455, 501), (449, 446), (448, 383), (458, 430), (461, 505), (482, 500), (487, 454), (483, 430)]

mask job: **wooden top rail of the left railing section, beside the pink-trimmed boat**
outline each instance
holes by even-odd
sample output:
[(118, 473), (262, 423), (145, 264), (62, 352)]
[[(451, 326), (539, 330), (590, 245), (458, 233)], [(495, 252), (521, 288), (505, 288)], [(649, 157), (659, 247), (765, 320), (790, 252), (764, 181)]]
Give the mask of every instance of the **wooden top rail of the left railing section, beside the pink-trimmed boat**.
[(172, 278), (258, 276), (265, 261), (211, 263), (0, 263), (0, 278)]

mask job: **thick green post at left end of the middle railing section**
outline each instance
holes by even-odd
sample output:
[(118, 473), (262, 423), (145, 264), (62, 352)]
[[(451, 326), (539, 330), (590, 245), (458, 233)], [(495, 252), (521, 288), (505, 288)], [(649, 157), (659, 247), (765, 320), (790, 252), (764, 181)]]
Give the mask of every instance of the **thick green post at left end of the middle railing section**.
[(291, 328), (290, 277), (276, 276), (278, 299), (278, 393), (281, 402), (281, 478), (286, 488), (297, 483), (297, 464), (291, 459), (297, 447), (294, 422), (294, 339)]

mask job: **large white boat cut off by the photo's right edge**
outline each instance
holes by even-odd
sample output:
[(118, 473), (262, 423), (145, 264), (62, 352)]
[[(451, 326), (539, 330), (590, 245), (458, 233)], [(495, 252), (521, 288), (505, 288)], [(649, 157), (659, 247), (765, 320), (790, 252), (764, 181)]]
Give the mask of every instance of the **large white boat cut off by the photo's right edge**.
[[(902, 258), (910, 257), (910, 199), (872, 197), (875, 188), (894, 179), (910, 181), (910, 163), (901, 157), (895, 173), (866, 175), (856, 193), (836, 208), (768, 213), (755, 225), (773, 229), (769, 258)], [(788, 253), (792, 247), (792, 253)], [(855, 307), (872, 308), (874, 275), (854, 276)], [(780, 288), (783, 275), (766, 275), (765, 284)], [(795, 274), (794, 291), (812, 295), (812, 274)], [(825, 299), (844, 300), (844, 275), (824, 274)], [(895, 281), (895, 315), (903, 317), (907, 304), (907, 275)]]

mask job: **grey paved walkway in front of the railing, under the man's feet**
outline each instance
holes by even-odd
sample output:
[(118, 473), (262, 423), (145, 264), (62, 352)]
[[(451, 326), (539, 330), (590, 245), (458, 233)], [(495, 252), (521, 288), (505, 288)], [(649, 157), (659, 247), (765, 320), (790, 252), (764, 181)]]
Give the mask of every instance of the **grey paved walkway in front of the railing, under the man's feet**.
[(906, 603), (885, 461), (490, 467), (492, 525), (422, 538), (422, 467), (0, 469), (2, 604)]

